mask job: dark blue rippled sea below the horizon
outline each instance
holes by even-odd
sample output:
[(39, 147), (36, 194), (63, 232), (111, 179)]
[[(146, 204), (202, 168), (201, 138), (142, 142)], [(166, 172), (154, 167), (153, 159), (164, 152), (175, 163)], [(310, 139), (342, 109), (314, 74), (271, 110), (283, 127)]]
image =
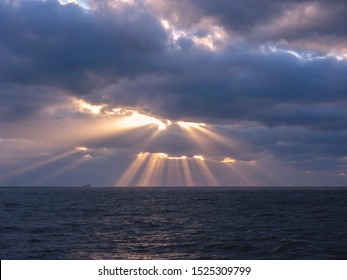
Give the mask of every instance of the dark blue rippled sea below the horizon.
[(347, 259), (347, 188), (0, 188), (1, 259)]

